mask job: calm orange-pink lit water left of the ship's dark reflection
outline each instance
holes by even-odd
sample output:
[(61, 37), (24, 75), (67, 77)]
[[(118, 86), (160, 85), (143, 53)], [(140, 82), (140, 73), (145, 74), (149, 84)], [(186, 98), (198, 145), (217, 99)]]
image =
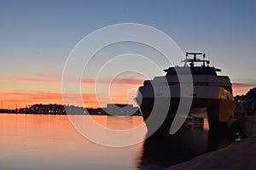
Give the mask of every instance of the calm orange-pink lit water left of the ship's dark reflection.
[[(106, 116), (95, 118), (110, 123)], [(0, 169), (131, 170), (136, 169), (142, 148), (142, 143), (125, 148), (92, 143), (73, 128), (67, 116), (0, 114)]]

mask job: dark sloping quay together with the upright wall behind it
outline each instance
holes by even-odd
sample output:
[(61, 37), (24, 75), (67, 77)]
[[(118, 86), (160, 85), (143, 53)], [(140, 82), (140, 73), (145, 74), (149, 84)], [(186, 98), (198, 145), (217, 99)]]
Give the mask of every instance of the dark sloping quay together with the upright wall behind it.
[(183, 163), (168, 167), (182, 169), (248, 169), (256, 167), (256, 116), (241, 116), (238, 138), (223, 149), (210, 151)]

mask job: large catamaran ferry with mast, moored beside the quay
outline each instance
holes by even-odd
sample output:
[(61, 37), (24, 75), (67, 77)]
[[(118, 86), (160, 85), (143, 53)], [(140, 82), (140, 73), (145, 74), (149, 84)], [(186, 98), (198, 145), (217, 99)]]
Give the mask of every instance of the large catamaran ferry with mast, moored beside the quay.
[[(194, 57), (189, 59), (189, 54)], [(232, 95), (230, 78), (218, 76), (217, 72), (221, 70), (209, 66), (210, 61), (205, 59), (205, 54), (203, 54), (203, 59), (199, 59), (198, 55), (201, 53), (187, 53), (186, 59), (183, 60), (185, 63), (183, 67), (169, 67), (165, 70), (165, 77), (146, 80), (138, 89), (136, 100), (140, 105), (148, 132), (154, 132), (155, 125), (160, 122), (157, 119), (161, 115), (167, 114), (159, 128), (160, 133), (169, 133), (173, 120), (184, 120), (185, 116), (176, 115), (179, 108), (184, 107), (183, 103), (180, 106), (181, 99), (192, 100), (191, 108), (207, 108), (210, 129), (226, 127), (227, 122), (234, 115), (236, 104)], [(196, 63), (201, 63), (201, 65), (195, 65)], [(192, 80), (189, 79), (189, 75), (192, 76)], [(191, 86), (193, 86), (191, 91), (182, 93), (182, 87)], [(186, 102), (184, 103), (186, 105)], [(173, 124), (177, 124), (177, 121)]]

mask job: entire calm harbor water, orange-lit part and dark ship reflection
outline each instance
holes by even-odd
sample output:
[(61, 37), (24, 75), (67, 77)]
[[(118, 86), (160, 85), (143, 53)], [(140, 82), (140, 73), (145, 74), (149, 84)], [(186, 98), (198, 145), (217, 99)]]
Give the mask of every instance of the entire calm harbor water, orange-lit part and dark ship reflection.
[[(141, 116), (94, 118), (114, 129), (143, 123)], [(137, 132), (142, 133), (146, 127)], [(232, 141), (231, 136), (209, 135), (205, 122), (172, 136), (110, 148), (84, 138), (67, 116), (0, 114), (0, 169), (164, 169)]]

